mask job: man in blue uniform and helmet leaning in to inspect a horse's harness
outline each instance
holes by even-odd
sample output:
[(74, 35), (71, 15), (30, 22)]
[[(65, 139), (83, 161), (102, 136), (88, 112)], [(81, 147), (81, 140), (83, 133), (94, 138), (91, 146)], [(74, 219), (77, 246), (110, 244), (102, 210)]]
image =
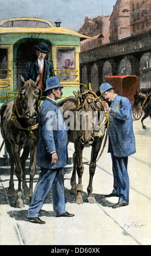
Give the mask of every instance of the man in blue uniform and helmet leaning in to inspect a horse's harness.
[[(103, 106), (109, 111), (109, 147), (113, 163), (114, 190), (106, 197), (119, 197), (112, 208), (129, 204), (128, 156), (136, 152), (132, 106), (127, 97), (119, 96), (109, 83), (100, 86)], [(109, 107), (109, 103), (111, 103)]]

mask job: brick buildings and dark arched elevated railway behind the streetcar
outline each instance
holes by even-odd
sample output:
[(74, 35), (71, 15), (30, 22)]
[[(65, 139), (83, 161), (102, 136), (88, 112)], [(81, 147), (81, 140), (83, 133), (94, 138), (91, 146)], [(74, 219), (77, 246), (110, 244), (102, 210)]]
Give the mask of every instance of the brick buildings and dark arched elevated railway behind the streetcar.
[(86, 17), (78, 32), (92, 38), (81, 41), (81, 83), (97, 92), (106, 76), (134, 75), (151, 87), (151, 0), (117, 0), (110, 16)]

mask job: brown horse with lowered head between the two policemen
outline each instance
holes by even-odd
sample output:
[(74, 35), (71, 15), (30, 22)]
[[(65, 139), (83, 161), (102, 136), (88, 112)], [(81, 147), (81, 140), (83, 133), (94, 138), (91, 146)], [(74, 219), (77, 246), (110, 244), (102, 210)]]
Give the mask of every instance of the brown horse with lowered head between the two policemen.
[[(88, 201), (95, 203), (96, 200), (93, 192), (93, 176), (96, 169), (97, 156), (101, 148), (104, 137), (104, 126), (108, 123), (108, 113), (102, 106), (101, 99), (90, 89), (84, 93), (75, 93), (75, 96), (70, 96), (58, 103), (58, 106), (63, 107), (63, 118), (67, 125), (68, 142), (74, 143), (75, 152), (73, 155), (73, 174), (71, 176), (71, 192), (77, 194), (76, 203), (83, 203), (82, 199), (82, 174), (83, 163), (82, 153), (84, 147), (91, 146), (91, 159), (89, 164), (89, 185)], [(73, 121), (72, 117), (73, 115)], [(94, 113), (98, 116), (94, 117)], [(82, 115), (81, 115), (82, 114)], [(105, 115), (104, 115), (105, 114)], [(81, 118), (78, 118), (81, 115)], [(68, 129), (68, 120), (70, 120), (70, 129)], [(98, 120), (98, 121), (97, 121)], [(84, 129), (82, 121), (86, 121)], [(91, 126), (91, 127), (90, 127)], [(76, 171), (78, 175), (78, 184), (76, 186)]]

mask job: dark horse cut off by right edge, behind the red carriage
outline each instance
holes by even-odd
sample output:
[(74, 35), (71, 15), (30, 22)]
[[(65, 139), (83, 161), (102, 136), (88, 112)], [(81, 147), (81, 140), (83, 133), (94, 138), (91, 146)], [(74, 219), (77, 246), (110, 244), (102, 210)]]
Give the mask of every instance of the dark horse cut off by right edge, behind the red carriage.
[(136, 91), (136, 94), (134, 95), (134, 106), (137, 106), (139, 103), (141, 103), (142, 109), (145, 112), (141, 119), (142, 128), (146, 129), (143, 120), (147, 117), (151, 118), (151, 88), (140, 89), (139, 92)]

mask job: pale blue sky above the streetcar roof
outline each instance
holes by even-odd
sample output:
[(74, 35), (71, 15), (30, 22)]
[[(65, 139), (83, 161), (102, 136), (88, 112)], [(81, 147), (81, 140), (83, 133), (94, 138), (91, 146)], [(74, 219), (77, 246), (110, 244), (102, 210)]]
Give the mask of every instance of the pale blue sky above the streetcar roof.
[(0, 0), (0, 21), (13, 17), (37, 17), (48, 20), (55, 26), (57, 19), (61, 27), (78, 31), (84, 18), (108, 16), (116, 0)]

